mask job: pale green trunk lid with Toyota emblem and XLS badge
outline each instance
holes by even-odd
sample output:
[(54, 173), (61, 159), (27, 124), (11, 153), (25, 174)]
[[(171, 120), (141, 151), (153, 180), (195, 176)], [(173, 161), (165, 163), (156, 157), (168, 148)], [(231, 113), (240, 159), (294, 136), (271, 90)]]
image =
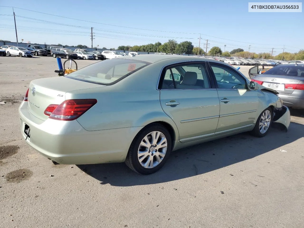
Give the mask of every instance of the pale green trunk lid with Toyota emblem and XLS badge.
[(65, 77), (36, 79), (29, 84), (28, 109), (37, 118), (46, 120), (44, 110), (51, 104), (62, 103), (67, 92), (104, 86)]

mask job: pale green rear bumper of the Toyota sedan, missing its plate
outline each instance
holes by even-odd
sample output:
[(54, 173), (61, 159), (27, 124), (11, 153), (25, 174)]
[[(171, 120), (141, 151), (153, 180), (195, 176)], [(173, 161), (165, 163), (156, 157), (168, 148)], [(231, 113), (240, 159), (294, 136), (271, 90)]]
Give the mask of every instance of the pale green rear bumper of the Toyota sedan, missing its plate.
[(25, 125), (30, 127), (26, 142), (43, 156), (59, 164), (98, 164), (123, 162), (130, 144), (141, 127), (87, 131), (77, 120), (38, 119), (27, 102), (19, 107), (21, 134), (26, 139)]

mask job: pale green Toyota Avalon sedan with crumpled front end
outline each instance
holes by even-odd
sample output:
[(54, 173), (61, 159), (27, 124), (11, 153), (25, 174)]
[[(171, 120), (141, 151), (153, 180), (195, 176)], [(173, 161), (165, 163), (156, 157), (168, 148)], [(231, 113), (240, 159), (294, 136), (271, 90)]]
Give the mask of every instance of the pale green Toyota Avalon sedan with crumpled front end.
[(171, 151), (251, 131), (288, 129), (277, 92), (228, 64), (179, 55), (122, 56), (30, 82), (21, 134), (60, 164), (125, 162), (151, 174)]

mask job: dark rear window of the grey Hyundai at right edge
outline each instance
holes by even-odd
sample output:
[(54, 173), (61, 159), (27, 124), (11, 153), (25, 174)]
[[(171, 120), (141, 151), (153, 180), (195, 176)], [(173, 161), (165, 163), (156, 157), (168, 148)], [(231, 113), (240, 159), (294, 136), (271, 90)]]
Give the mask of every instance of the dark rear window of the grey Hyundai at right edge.
[[(266, 74), (266, 72), (264, 73)], [(302, 77), (304, 75), (304, 66), (276, 66), (267, 71), (271, 75), (283, 75), (292, 77)]]

